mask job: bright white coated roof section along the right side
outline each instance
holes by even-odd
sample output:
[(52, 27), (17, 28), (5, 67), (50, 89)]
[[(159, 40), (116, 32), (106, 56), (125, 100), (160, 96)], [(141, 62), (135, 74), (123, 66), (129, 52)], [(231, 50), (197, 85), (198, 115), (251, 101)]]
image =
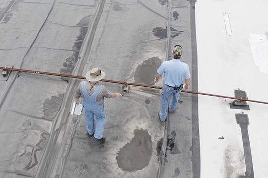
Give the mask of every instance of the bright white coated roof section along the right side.
[[(268, 1), (196, 2), (199, 91), (268, 102)], [(232, 35), (226, 33), (229, 15)], [(237, 178), (246, 172), (241, 128), (235, 114), (248, 115), (255, 178), (268, 177), (267, 104), (248, 102), (250, 110), (230, 109), (232, 101), (199, 96), (201, 178)], [(224, 139), (218, 139), (223, 136)], [(228, 160), (229, 159), (229, 160)]]

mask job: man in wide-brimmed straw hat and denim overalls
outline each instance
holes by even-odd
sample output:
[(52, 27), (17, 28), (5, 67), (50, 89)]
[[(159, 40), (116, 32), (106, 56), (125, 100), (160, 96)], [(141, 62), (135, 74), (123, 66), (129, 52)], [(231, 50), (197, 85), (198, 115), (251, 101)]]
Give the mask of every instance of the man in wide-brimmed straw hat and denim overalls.
[[(87, 81), (80, 82), (74, 95), (74, 103), (78, 103), (81, 97), (83, 101), (83, 111), (85, 112), (86, 129), (89, 136), (95, 137), (99, 141), (105, 141), (103, 137), (103, 128), (106, 122), (104, 111), (105, 98), (119, 98), (120, 93), (112, 93), (99, 82), (105, 77), (105, 72), (98, 67), (92, 68), (85, 75)], [(96, 126), (94, 116), (96, 117)], [(94, 129), (95, 126), (95, 129)]]

